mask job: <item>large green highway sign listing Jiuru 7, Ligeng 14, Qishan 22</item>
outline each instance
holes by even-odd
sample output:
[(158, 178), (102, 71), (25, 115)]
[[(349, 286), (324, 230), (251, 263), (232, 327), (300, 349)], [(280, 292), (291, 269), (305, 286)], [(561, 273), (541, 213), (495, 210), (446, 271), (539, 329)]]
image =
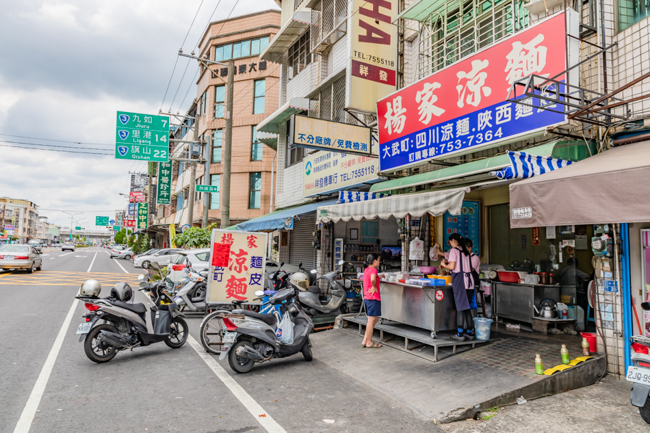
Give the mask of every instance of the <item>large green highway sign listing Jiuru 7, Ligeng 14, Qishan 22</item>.
[(169, 117), (118, 111), (115, 157), (169, 161)]

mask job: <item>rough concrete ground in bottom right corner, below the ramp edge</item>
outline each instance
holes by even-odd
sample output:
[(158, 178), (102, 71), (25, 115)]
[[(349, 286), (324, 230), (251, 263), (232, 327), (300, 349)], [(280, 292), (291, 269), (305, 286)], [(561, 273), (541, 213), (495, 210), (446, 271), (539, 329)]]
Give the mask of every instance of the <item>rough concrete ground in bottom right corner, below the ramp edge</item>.
[[(486, 421), (442, 425), (447, 433), (649, 432), (638, 408), (629, 404), (632, 384), (603, 378), (591, 386), (499, 408)], [(482, 416), (489, 416), (483, 412)]]

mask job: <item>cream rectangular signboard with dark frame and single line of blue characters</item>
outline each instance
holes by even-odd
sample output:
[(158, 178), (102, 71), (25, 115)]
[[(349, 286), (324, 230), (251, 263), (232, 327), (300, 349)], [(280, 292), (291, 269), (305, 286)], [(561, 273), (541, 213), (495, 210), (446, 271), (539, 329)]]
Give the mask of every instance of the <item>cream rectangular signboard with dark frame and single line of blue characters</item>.
[(370, 155), (370, 128), (307, 116), (291, 116), (291, 145)]

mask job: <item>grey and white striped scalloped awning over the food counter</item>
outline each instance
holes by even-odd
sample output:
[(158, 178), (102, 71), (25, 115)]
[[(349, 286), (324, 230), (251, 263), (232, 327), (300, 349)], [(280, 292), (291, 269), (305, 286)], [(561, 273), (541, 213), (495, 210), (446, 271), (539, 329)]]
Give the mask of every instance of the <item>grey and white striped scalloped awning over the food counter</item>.
[(400, 194), (376, 200), (343, 203), (342, 205), (320, 206), (316, 213), (317, 221), (339, 220), (372, 220), (382, 218), (387, 220), (391, 216), (404, 218), (406, 214), (421, 217), (425, 213), (437, 216), (446, 211), (452, 215), (460, 215), (463, 207), (463, 198), (469, 188), (445, 189), (436, 192), (421, 192), (419, 194)]

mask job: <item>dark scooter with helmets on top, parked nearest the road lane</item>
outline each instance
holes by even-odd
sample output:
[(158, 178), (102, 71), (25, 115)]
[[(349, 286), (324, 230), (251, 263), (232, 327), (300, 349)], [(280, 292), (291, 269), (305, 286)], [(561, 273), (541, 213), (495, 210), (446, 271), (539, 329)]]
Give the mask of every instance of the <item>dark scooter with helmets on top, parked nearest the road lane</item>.
[[(144, 280), (145, 276), (138, 276)], [(164, 341), (172, 349), (185, 344), (189, 328), (178, 311), (174, 300), (164, 291), (164, 280), (141, 283), (140, 291), (151, 291), (154, 306), (150, 308), (153, 333), (147, 332), (146, 306), (133, 301), (133, 289), (127, 283), (118, 283), (111, 291), (131, 293), (130, 296), (98, 298), (96, 296), (77, 296), (83, 300), (88, 313), (83, 315), (85, 322), (77, 328), (81, 334), (79, 342), (84, 341), (83, 350), (88, 359), (95, 363), (106, 363), (118, 352), (135, 347), (151, 345)], [(98, 323), (101, 322), (101, 323)]]

